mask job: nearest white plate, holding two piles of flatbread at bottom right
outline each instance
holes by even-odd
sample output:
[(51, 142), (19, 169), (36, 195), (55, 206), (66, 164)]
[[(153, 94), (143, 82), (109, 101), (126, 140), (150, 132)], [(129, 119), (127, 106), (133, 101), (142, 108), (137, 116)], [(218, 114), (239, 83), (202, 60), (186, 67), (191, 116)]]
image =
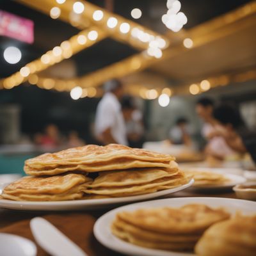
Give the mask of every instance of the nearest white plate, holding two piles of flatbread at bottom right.
[(181, 207), (186, 204), (205, 204), (209, 207), (225, 207), (226, 211), (235, 214), (237, 210), (243, 214), (256, 214), (256, 202), (247, 200), (229, 199), (229, 198), (214, 198), (214, 197), (181, 197), (167, 198), (136, 204), (125, 205), (107, 212), (96, 221), (93, 232), (97, 240), (104, 246), (127, 255), (140, 256), (191, 256), (193, 253), (169, 252), (164, 250), (154, 250), (136, 246), (127, 243), (111, 233), (111, 223), (115, 219), (116, 213), (120, 211), (134, 211), (141, 208), (149, 207)]

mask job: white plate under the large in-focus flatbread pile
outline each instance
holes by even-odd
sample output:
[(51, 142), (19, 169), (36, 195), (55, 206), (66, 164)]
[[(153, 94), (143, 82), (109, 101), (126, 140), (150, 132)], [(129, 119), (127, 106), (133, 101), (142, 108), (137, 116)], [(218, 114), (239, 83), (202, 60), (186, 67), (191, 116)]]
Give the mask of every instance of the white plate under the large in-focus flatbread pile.
[(28, 202), (28, 201), (12, 201), (0, 200), (0, 207), (14, 210), (24, 211), (70, 211), (79, 209), (97, 209), (108, 207), (109, 205), (125, 204), (127, 202), (143, 201), (159, 196), (166, 196), (182, 189), (188, 188), (193, 184), (194, 180), (190, 180), (188, 184), (179, 186), (177, 188), (165, 189), (155, 193), (149, 193), (138, 196), (125, 196), (117, 198), (102, 198), (102, 199), (88, 199), (88, 200), (72, 200), (72, 201), (58, 201), (58, 202)]

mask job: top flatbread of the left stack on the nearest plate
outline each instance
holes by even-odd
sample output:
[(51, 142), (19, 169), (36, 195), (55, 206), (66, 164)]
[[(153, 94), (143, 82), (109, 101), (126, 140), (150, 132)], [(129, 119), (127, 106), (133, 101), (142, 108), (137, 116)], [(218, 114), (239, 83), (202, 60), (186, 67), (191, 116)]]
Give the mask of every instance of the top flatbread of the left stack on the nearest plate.
[(206, 205), (189, 204), (180, 208), (139, 209), (119, 212), (118, 218), (127, 223), (163, 234), (202, 234), (213, 223), (227, 220), (230, 214), (223, 209), (211, 209)]

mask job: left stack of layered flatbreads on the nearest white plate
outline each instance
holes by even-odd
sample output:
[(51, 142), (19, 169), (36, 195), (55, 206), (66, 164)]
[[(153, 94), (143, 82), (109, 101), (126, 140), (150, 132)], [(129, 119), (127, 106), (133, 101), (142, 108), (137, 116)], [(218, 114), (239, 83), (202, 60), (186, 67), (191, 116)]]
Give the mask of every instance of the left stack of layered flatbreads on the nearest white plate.
[(223, 209), (200, 204), (138, 209), (116, 214), (111, 230), (115, 236), (138, 246), (193, 251), (207, 228), (229, 217)]

